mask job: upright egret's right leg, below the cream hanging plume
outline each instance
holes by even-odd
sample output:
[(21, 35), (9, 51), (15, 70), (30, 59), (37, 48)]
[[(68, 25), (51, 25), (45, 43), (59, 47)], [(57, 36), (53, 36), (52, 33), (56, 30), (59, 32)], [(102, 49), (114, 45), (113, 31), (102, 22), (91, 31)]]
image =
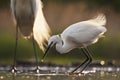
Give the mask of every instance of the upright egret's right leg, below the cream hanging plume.
[(37, 73), (39, 73), (39, 71), (40, 71), (40, 68), (39, 68), (39, 60), (38, 60), (38, 57), (37, 57), (37, 52), (36, 52), (36, 47), (35, 47), (34, 36), (32, 37), (32, 42), (33, 42), (34, 56), (35, 56), (35, 60), (36, 60), (36, 69), (35, 69), (35, 71), (36, 71)]

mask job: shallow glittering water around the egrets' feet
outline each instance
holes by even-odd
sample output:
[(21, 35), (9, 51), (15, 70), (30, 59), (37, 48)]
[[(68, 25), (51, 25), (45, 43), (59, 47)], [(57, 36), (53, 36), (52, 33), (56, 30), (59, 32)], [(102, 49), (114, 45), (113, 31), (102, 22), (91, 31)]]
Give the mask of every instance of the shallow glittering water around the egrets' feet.
[(28, 70), (34, 67), (18, 67), (27, 70), (16, 74), (8, 72), (9, 67), (4, 68), (0, 68), (0, 80), (120, 80), (119, 67), (89, 67), (79, 75), (69, 75), (67, 72), (73, 68), (66, 67), (41, 67), (40, 74)]

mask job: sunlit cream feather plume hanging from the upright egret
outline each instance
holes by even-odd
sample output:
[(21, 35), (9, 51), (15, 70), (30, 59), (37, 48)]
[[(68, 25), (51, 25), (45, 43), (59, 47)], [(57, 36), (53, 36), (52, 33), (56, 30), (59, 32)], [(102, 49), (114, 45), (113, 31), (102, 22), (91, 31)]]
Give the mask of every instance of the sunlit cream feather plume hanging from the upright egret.
[(37, 4), (38, 8), (36, 10), (33, 34), (40, 49), (44, 51), (45, 40), (48, 40), (50, 37), (50, 28), (43, 15), (41, 0), (38, 0)]

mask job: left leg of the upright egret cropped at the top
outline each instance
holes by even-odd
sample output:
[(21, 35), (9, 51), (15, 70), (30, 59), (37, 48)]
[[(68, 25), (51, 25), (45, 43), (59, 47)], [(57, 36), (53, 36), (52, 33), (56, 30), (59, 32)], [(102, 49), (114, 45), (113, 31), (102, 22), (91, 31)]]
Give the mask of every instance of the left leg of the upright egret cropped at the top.
[(12, 70), (11, 70), (12, 73), (17, 72), (17, 69), (16, 69), (17, 46), (18, 46), (18, 25), (16, 26), (16, 38), (15, 38), (15, 49), (14, 49), (14, 61), (13, 61)]

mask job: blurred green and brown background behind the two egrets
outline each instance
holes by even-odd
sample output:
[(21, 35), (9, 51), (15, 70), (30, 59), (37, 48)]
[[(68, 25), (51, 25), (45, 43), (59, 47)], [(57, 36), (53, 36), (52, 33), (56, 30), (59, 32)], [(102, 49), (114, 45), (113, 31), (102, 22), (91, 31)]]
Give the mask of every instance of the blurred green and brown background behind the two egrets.
[[(89, 46), (94, 61), (114, 60), (120, 63), (120, 0), (42, 0), (44, 15), (52, 30), (52, 34), (61, 33), (70, 24), (83, 21), (104, 13), (107, 17), (108, 29), (105, 38)], [(0, 0), (0, 64), (12, 64), (15, 45), (15, 26), (10, 11), (10, 0)], [(37, 46), (41, 59), (43, 52)], [(85, 57), (79, 49), (68, 54), (59, 54), (52, 48), (46, 62), (69, 64), (79, 62)], [(34, 62), (31, 40), (23, 39), (19, 33), (17, 60)]]

